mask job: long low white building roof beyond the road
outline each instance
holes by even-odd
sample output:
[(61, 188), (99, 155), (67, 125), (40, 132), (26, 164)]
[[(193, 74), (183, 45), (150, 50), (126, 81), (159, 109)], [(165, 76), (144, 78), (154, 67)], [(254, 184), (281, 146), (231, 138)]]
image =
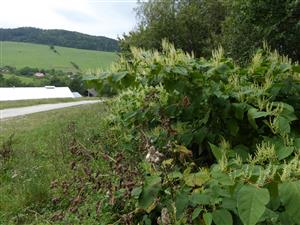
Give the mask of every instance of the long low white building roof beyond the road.
[(68, 87), (11, 87), (0, 88), (0, 101), (28, 99), (74, 98)]

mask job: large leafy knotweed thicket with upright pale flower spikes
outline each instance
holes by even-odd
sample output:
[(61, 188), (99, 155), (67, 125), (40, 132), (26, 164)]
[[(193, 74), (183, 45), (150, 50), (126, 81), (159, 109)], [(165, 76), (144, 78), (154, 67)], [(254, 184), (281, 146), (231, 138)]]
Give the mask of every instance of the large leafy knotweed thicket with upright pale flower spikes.
[(300, 224), (300, 66), (267, 47), (245, 67), (222, 48), (132, 53), (87, 81), (121, 92), (114, 121), (143, 153), (132, 223)]

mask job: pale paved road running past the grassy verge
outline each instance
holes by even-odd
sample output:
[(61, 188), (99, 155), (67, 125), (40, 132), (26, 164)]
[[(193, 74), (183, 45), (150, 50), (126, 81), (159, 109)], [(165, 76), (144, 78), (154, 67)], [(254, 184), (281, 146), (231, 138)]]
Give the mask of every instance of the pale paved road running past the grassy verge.
[(28, 106), (22, 108), (11, 108), (0, 110), (0, 120), (7, 119), (11, 117), (24, 116), (27, 114), (44, 112), (53, 109), (61, 109), (71, 106), (85, 105), (85, 104), (94, 104), (101, 102), (101, 100), (90, 100), (90, 101), (80, 101), (80, 102), (67, 102), (67, 103), (55, 103), (55, 104), (42, 104), (35, 106)]

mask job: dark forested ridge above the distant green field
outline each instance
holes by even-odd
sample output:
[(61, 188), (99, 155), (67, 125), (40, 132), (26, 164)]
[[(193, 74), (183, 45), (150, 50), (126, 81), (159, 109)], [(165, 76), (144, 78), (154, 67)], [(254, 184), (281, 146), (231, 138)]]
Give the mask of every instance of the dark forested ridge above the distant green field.
[(1, 41), (30, 42), (98, 51), (119, 51), (118, 41), (66, 30), (43, 30), (32, 27), (1, 29)]

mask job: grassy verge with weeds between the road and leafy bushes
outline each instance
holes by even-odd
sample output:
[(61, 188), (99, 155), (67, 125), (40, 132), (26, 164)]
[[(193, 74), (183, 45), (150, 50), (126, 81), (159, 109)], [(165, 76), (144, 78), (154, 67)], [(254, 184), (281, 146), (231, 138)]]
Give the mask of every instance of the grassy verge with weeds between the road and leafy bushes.
[[(80, 156), (70, 152), (75, 142), (88, 146), (86, 151), (90, 153), (101, 149), (101, 137), (108, 135), (101, 125), (105, 111), (103, 104), (93, 104), (0, 121), (0, 224), (60, 224), (55, 216), (60, 210), (68, 212), (67, 203), (53, 204), (60, 194), (53, 183), (73, 182), (76, 172), (70, 165), (74, 160), (79, 173), (83, 172), (86, 164), (81, 164)], [(108, 172), (103, 160), (93, 166), (103, 174)], [(84, 179), (83, 175), (80, 177)], [(87, 196), (86, 204), (78, 210), (95, 209), (102, 196), (95, 195)], [(65, 193), (65, 199), (72, 196), (77, 196), (76, 190)], [(81, 224), (78, 217), (71, 212), (67, 214), (64, 217), (68, 224)], [(105, 218), (109, 215), (101, 215), (104, 224)], [(87, 221), (87, 224), (94, 223)]]

